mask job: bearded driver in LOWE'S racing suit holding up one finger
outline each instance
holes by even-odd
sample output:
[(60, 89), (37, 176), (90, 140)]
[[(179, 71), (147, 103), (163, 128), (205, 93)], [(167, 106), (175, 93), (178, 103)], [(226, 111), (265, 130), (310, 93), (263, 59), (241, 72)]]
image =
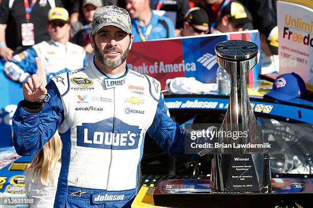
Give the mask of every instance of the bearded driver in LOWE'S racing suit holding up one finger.
[[(23, 84), (13, 116), (13, 143), (33, 155), (58, 129), (62, 167), (54, 207), (130, 207), (137, 193), (145, 133), (171, 155), (184, 155), (184, 131), (169, 115), (160, 83), (128, 70), (131, 21), (126, 10), (98, 9), (91, 28), (90, 65)], [(42, 100), (42, 101), (41, 101)]]

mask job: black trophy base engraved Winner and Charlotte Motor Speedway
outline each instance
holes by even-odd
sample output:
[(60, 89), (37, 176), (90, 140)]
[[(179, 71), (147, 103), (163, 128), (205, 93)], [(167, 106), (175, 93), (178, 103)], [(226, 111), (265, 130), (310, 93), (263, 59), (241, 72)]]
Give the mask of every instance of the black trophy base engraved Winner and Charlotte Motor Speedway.
[(213, 154), (211, 188), (217, 192), (271, 192), (269, 154)]

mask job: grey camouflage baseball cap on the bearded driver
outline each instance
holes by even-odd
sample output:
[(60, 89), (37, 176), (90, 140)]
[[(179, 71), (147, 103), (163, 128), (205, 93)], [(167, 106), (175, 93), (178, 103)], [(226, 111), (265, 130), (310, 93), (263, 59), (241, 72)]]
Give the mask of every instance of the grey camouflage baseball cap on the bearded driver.
[(123, 8), (110, 5), (97, 9), (93, 16), (91, 34), (95, 35), (101, 28), (109, 25), (131, 34), (130, 16)]

